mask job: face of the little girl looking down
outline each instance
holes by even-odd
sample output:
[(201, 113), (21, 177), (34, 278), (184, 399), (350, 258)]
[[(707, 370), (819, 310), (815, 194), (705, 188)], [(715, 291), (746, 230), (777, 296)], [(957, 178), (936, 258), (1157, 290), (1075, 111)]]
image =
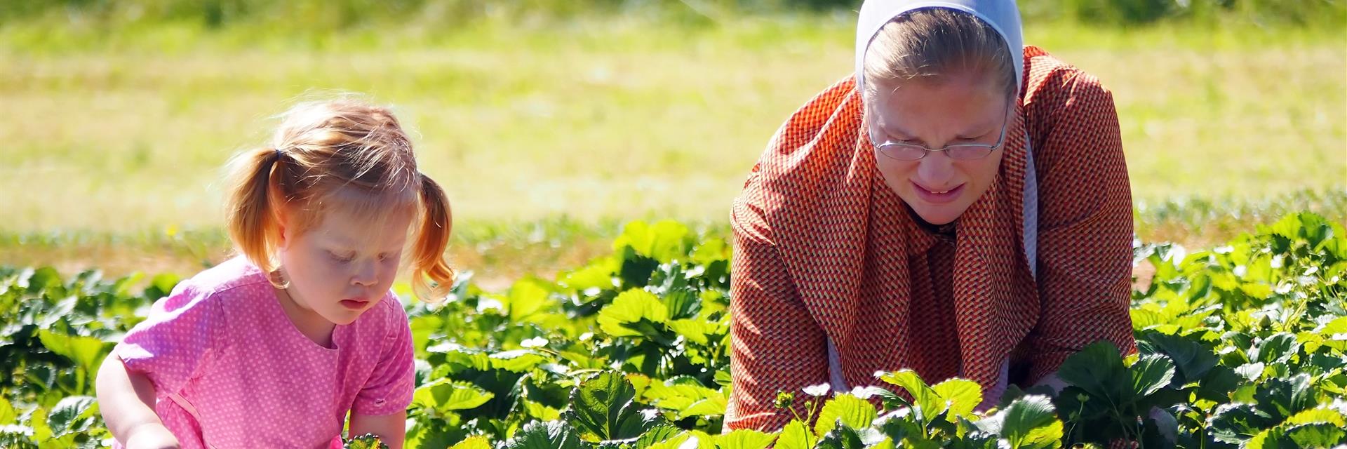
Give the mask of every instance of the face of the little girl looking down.
[(303, 232), (282, 229), (280, 264), (286, 293), (303, 311), (346, 325), (388, 293), (397, 275), (414, 214), (370, 220), (333, 210)]

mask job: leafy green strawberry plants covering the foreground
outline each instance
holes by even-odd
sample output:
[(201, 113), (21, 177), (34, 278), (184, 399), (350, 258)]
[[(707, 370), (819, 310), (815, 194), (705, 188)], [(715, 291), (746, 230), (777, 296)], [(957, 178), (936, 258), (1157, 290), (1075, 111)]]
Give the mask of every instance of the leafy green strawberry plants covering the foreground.
[[(1299, 213), (1224, 245), (1137, 245), (1138, 352), (1095, 344), (1060, 391), (876, 373), (781, 392), (780, 430), (722, 433), (730, 245), (632, 222), (612, 253), (500, 293), (465, 275), (408, 307), (408, 448), (1331, 448), (1347, 441), (1347, 232)], [(109, 442), (93, 373), (178, 278), (0, 267), (0, 446)], [(140, 291), (132, 286), (148, 285)], [(346, 448), (379, 448), (373, 436)]]

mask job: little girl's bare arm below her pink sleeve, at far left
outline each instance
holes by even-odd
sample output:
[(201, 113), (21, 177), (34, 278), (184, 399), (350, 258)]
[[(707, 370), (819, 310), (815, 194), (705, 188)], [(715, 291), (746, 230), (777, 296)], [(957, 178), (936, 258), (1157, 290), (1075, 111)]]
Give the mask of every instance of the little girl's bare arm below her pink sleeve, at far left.
[(116, 355), (108, 355), (96, 383), (98, 410), (108, 431), (127, 449), (178, 448), (178, 438), (155, 414), (155, 386), (150, 378), (129, 372)]

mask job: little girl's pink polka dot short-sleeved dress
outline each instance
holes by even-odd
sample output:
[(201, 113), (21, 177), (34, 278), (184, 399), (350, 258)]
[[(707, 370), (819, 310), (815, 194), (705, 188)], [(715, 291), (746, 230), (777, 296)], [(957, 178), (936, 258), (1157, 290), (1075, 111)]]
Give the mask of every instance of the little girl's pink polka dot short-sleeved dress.
[(415, 390), (395, 294), (338, 325), (325, 348), (291, 324), (244, 258), (179, 283), (113, 353), (154, 382), (156, 413), (183, 449), (339, 448), (348, 411), (403, 411)]

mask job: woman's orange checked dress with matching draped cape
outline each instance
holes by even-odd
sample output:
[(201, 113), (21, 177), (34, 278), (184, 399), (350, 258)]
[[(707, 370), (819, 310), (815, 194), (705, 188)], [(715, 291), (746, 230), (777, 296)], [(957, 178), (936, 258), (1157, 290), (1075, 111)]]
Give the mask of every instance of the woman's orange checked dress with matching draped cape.
[(885, 185), (853, 77), (777, 131), (731, 214), (727, 429), (776, 430), (792, 418), (773, 407), (777, 391), (834, 379), (882, 386), (877, 371), (909, 368), (997, 391), (1028, 387), (1098, 340), (1136, 351), (1131, 194), (1113, 97), (1037, 47), (1024, 58), (997, 179), (955, 225), (925, 225)]

